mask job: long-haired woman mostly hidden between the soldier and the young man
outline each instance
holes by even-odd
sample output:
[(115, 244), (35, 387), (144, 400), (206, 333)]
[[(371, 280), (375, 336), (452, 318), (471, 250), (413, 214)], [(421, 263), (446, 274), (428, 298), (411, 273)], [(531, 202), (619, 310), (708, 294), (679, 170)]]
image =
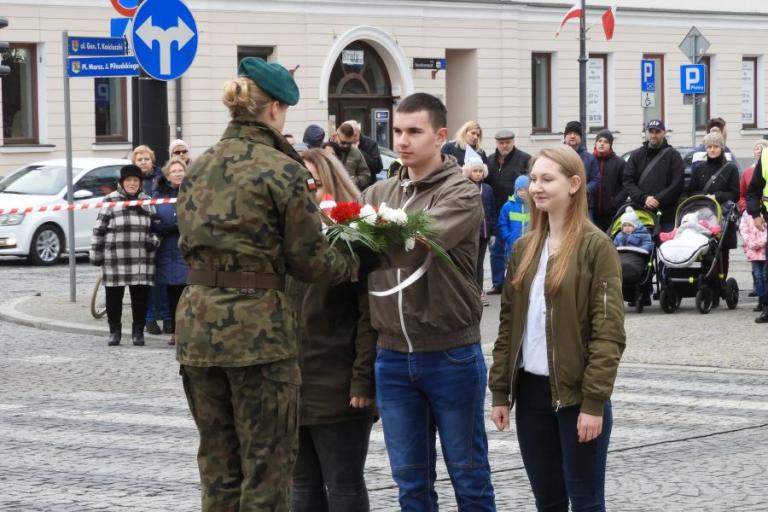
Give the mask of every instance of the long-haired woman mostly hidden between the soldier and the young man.
[[(355, 201), (360, 191), (334, 156), (302, 154), (325, 194)], [(299, 455), (293, 472), (293, 512), (369, 509), (363, 475), (373, 424), (376, 332), (366, 280), (331, 286), (289, 280), (299, 332)]]

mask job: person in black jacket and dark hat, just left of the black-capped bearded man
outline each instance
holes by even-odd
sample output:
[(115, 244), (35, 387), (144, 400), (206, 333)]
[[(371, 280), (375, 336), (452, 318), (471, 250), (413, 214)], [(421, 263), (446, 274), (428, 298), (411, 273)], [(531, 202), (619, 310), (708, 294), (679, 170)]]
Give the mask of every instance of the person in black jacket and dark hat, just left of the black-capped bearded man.
[(598, 132), (594, 156), (600, 184), (595, 194), (593, 220), (597, 227), (607, 231), (619, 207), (627, 200), (627, 192), (624, 190), (624, 159), (613, 152), (613, 134), (610, 130)]

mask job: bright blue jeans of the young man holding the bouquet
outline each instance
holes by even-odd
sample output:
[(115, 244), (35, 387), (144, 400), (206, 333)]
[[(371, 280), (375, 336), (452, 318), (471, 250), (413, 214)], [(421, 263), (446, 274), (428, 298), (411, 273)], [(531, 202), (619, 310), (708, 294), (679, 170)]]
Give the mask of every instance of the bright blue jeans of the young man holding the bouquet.
[(495, 511), (480, 344), (440, 352), (377, 352), (376, 401), (401, 510), (438, 510), (438, 432), (459, 511)]

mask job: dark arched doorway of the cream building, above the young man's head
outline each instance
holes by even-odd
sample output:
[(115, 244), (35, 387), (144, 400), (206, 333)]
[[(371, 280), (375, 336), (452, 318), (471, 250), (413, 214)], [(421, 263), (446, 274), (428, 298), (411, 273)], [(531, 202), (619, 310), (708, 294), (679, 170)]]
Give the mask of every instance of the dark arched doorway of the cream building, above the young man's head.
[[(328, 81), (328, 115), (332, 124), (355, 120), (365, 135), (391, 147), (392, 84), (378, 52), (363, 41), (339, 54)], [(334, 123), (335, 121), (335, 123)]]

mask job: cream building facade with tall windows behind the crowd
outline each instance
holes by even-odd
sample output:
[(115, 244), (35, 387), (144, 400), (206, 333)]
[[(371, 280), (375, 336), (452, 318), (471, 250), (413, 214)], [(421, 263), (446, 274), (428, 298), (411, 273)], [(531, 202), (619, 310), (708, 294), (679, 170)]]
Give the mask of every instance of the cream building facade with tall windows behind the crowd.
[[(295, 69), (301, 101), (289, 111), (286, 132), (297, 139), (308, 124), (328, 129), (361, 122), (382, 145), (391, 144), (392, 109), (416, 91), (441, 97), (451, 132), (470, 119), (493, 133), (511, 128), (529, 152), (562, 140), (579, 115), (578, 21), (555, 37), (570, 7), (563, 2), (362, 0), (188, 0), (198, 30), (198, 54), (182, 79), (169, 82), (169, 137), (181, 137), (193, 155), (221, 135), (228, 115), (222, 85), (240, 58), (262, 56)], [(591, 4), (591, 2), (589, 2)], [(740, 158), (768, 134), (765, 81), (768, 3), (626, 0), (616, 12), (615, 35), (606, 40), (589, 5), (587, 26), (588, 119), (594, 133), (616, 133), (622, 153), (642, 142), (642, 127), (664, 119), (676, 146), (700, 142), (710, 117), (728, 122), (728, 145)], [(674, 8), (672, 8), (674, 7)], [(0, 0), (9, 26), (0, 82), (0, 176), (36, 160), (64, 155), (62, 31), (109, 35), (116, 17), (110, 0)], [(692, 26), (710, 43), (707, 92), (693, 107), (680, 92), (678, 48)], [(641, 73), (641, 61), (653, 73)], [(434, 61), (434, 62), (433, 62)], [(641, 84), (645, 89), (641, 91)], [(648, 85), (650, 83), (650, 86)], [(75, 156), (124, 156), (132, 145), (130, 79), (76, 79), (72, 87)], [(178, 89), (178, 91), (177, 91)], [(591, 142), (589, 142), (591, 145)]]

